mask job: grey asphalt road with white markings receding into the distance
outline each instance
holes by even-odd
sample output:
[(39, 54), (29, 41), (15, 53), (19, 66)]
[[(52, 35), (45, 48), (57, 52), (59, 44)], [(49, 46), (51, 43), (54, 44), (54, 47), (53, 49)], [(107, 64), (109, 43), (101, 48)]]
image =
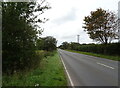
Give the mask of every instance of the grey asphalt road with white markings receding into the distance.
[(118, 61), (58, 49), (73, 86), (118, 86)]

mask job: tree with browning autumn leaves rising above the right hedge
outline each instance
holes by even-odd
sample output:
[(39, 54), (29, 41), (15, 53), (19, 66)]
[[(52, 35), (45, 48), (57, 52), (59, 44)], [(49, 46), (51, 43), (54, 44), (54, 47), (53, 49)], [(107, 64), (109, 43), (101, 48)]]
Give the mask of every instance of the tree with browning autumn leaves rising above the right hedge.
[(117, 37), (116, 23), (113, 12), (99, 8), (84, 18), (83, 28), (91, 39), (107, 44)]

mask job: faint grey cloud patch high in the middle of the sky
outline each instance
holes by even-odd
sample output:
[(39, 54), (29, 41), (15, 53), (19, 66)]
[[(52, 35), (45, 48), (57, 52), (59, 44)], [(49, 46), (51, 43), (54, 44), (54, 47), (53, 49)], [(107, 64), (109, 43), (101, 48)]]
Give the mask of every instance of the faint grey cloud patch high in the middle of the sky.
[(76, 9), (72, 8), (65, 16), (55, 19), (53, 23), (58, 25), (66, 23), (68, 21), (74, 21), (76, 19)]

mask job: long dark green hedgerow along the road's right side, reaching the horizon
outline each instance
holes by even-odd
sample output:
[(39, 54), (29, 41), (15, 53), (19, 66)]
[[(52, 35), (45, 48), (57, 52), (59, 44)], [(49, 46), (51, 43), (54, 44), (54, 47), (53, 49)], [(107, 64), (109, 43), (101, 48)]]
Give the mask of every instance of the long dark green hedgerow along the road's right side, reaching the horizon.
[[(62, 43), (64, 44), (64, 43)], [(120, 43), (109, 43), (109, 44), (79, 44), (79, 43), (68, 43), (64, 48), (64, 45), (60, 45), (59, 48), (67, 50), (77, 50), (82, 52), (91, 52), (104, 55), (115, 55), (120, 56)]]

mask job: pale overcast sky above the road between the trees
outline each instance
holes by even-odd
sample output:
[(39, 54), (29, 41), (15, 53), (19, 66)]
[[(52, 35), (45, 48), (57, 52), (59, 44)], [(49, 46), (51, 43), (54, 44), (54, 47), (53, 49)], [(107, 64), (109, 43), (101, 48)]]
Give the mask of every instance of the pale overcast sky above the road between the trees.
[(77, 35), (80, 35), (80, 43), (93, 43), (94, 41), (82, 28), (84, 17), (90, 15), (90, 12), (97, 8), (109, 9), (117, 13), (119, 1), (47, 0), (52, 8), (44, 13), (49, 21), (42, 25), (44, 32), (41, 37), (53, 36), (58, 40), (57, 45), (60, 45), (64, 41), (77, 42)]

